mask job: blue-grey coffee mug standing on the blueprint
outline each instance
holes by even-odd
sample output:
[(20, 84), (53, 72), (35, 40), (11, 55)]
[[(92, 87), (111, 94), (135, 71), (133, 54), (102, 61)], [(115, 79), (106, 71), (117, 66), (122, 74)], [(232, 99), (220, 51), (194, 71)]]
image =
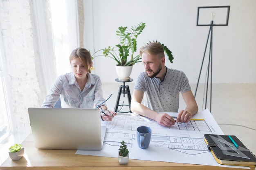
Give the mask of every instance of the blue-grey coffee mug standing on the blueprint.
[(152, 130), (147, 126), (140, 126), (137, 128), (137, 142), (139, 148), (146, 149), (149, 146), (151, 140)]

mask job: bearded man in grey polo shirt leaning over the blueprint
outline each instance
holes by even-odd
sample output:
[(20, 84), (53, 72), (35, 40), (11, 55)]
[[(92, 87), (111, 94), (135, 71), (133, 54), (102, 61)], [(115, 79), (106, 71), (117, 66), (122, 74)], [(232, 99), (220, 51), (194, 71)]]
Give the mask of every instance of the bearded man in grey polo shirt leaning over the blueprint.
[[(140, 49), (145, 72), (139, 74), (132, 94), (131, 111), (170, 127), (175, 122), (188, 122), (198, 112), (189, 80), (182, 71), (165, 66), (164, 49), (159, 43), (150, 43)], [(180, 110), (176, 121), (159, 112), (178, 112), (179, 93), (182, 93), (185, 110)], [(141, 104), (145, 93), (145, 106)]]

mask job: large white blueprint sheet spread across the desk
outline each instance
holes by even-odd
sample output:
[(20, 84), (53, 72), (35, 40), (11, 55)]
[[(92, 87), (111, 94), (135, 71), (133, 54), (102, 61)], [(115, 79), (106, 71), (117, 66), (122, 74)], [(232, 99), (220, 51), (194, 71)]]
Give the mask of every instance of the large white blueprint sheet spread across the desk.
[[(177, 113), (168, 114), (177, 117)], [(120, 141), (124, 140), (130, 159), (225, 166), (215, 161), (204, 142), (204, 134), (224, 135), (209, 110), (195, 114), (193, 119), (166, 128), (134, 113), (120, 113), (112, 121), (101, 122), (101, 126), (107, 127), (102, 150), (77, 150), (76, 154), (117, 157)], [(136, 130), (139, 126), (152, 129), (147, 149), (141, 149), (137, 144)]]

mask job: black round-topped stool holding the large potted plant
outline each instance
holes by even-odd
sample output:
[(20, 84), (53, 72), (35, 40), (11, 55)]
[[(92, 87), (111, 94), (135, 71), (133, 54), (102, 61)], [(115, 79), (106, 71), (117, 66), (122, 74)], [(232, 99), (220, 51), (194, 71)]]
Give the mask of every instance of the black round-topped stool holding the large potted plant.
[(122, 105), (119, 104), (119, 100), (120, 100), (121, 94), (124, 94), (124, 97), (125, 97), (125, 94), (127, 94), (127, 97), (128, 97), (128, 104), (124, 104), (124, 106), (129, 106), (129, 111), (127, 111), (127, 112), (121, 112), (121, 111), (119, 111), (119, 112), (120, 112), (120, 113), (129, 113), (129, 112), (131, 113), (130, 105), (131, 105), (131, 99), (132, 99), (132, 97), (131, 97), (131, 94), (130, 94), (130, 88), (129, 88), (128, 85), (125, 85), (125, 83), (127, 83), (127, 82), (132, 82), (133, 79), (128, 79), (128, 80), (125, 80), (125, 81), (121, 81), (121, 80), (119, 80), (119, 79), (117, 78), (117, 79), (115, 79), (115, 81), (116, 81), (116, 82), (122, 82), (122, 83), (123, 83), (123, 85), (120, 85), (120, 87), (119, 87), (119, 91), (118, 91), (118, 95), (117, 95), (117, 102), (116, 102), (116, 105), (115, 105), (115, 112), (117, 112), (119, 106), (122, 106)]

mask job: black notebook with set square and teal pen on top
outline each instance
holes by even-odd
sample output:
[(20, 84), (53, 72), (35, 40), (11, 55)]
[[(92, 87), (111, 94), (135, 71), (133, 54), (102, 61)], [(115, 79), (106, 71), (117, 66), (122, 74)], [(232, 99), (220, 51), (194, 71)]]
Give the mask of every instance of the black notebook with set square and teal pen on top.
[(236, 136), (205, 134), (204, 138), (208, 149), (218, 163), (256, 166), (256, 156)]

